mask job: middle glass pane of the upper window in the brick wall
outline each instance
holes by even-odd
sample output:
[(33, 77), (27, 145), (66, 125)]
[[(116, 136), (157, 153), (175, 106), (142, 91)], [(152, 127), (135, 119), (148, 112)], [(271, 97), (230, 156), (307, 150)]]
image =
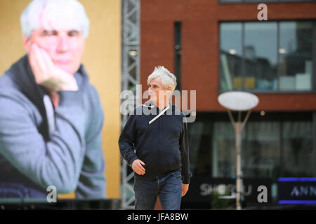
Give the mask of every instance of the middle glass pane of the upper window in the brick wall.
[(244, 24), (244, 90), (277, 90), (277, 22)]

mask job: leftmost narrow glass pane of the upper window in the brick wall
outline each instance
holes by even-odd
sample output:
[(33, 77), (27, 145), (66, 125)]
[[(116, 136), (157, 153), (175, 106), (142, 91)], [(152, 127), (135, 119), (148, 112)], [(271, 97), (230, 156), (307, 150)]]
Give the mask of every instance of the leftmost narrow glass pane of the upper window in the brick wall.
[(233, 82), (241, 77), (242, 23), (220, 23), (220, 90), (237, 89)]

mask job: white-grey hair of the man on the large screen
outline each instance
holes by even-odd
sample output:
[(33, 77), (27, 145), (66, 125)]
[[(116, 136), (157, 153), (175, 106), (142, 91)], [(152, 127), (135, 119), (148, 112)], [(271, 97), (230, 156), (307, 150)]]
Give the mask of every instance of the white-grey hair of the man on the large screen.
[(33, 0), (20, 17), (22, 34), (30, 38), (34, 29), (62, 24), (65, 29), (82, 31), (88, 36), (90, 22), (84, 6), (77, 0)]

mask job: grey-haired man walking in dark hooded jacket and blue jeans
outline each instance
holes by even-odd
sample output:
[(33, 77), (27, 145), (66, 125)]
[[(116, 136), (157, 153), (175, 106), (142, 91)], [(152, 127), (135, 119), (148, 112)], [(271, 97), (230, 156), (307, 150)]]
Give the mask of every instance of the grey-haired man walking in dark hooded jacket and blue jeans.
[(185, 114), (170, 102), (176, 76), (157, 66), (147, 84), (150, 100), (129, 116), (119, 149), (134, 171), (135, 208), (154, 209), (159, 196), (162, 209), (177, 210), (189, 188), (190, 169)]

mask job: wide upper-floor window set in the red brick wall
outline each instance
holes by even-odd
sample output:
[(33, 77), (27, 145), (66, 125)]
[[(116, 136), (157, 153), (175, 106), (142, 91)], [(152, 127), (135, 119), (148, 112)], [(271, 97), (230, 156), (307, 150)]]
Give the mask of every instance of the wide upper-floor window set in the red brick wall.
[(313, 24), (311, 21), (221, 22), (220, 91), (314, 90)]

